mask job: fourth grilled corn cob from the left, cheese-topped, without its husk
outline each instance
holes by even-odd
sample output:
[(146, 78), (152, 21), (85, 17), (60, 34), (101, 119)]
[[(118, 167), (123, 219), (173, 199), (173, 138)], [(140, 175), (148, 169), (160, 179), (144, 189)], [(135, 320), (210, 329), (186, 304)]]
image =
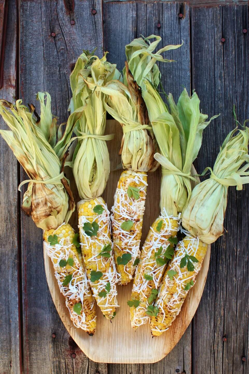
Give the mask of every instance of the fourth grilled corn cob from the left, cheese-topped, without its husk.
[[(138, 307), (132, 306), (130, 308), (130, 321), (133, 328), (146, 324), (150, 319), (146, 314), (147, 306), (154, 301), (153, 297), (150, 300), (150, 295), (153, 289), (158, 289), (166, 266), (163, 257), (157, 254), (162, 246), (161, 255), (163, 255), (168, 246), (171, 245), (168, 239), (175, 237), (179, 230), (178, 218), (168, 217), (165, 214), (160, 215), (151, 226), (136, 268), (131, 298), (132, 300), (139, 300), (140, 303)], [(153, 279), (145, 279), (145, 274)]]

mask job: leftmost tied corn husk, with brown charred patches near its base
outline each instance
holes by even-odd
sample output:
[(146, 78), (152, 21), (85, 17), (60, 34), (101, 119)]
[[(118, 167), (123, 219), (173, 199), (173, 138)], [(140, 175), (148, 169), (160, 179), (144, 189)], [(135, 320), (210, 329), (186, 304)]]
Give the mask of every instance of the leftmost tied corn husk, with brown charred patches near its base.
[[(45, 95), (46, 105), (43, 102)], [(19, 186), (29, 182), (22, 210), (31, 215), (37, 227), (49, 230), (56, 229), (64, 221), (67, 222), (75, 205), (68, 181), (63, 174), (63, 161), (59, 160), (49, 144), (54, 144), (56, 137), (55, 122), (50, 111), (50, 96), (48, 93), (39, 93), (37, 97), (42, 108), (40, 117), (34, 105), (30, 105), (29, 111), (22, 105), (21, 100), (17, 100), (15, 105), (0, 100), (0, 114), (10, 128), (10, 131), (0, 130), (0, 134), (30, 178)], [(65, 156), (64, 148), (59, 149)]]

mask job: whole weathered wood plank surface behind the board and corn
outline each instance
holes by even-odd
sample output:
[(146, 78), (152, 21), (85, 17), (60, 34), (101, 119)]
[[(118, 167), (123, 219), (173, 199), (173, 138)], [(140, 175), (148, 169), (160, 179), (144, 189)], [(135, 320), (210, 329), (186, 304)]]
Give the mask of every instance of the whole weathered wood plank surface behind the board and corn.
[[(162, 37), (161, 46), (184, 41), (181, 49), (165, 55), (177, 59), (161, 66), (165, 91), (178, 97), (183, 87), (195, 89), (203, 113), (221, 113), (205, 130), (195, 162), (198, 172), (213, 166), (219, 145), (234, 128), (233, 104), (240, 121), (249, 118), (246, 1), (220, 1), (221, 6), (190, 1), (190, 7), (169, 1), (0, 3), (0, 18), (5, 5), (0, 22), (1, 98), (20, 97), (27, 104), (35, 101), (37, 91), (46, 90), (52, 96), (52, 113), (65, 122), (69, 75), (83, 48), (97, 46), (99, 56), (108, 50), (109, 60), (121, 69), (125, 44), (139, 34), (156, 34)], [(2, 120), (1, 128), (6, 128)], [(202, 300), (178, 345), (156, 364), (98, 364), (76, 346), (55, 310), (44, 273), (42, 231), (20, 212), (17, 187), (25, 174), (2, 138), (0, 156), (0, 374), (249, 372), (248, 186), (228, 192), (227, 233), (212, 245)]]

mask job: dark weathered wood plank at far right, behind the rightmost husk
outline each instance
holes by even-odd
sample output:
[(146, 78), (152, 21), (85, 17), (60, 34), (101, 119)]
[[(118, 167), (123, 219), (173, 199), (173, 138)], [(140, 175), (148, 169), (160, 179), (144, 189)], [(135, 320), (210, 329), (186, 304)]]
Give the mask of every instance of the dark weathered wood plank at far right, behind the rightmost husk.
[[(248, 6), (192, 9), (191, 19), (192, 85), (203, 113), (221, 113), (205, 130), (197, 160), (199, 167), (213, 166), (219, 145), (235, 127), (233, 104), (240, 121), (249, 118), (249, 36), (242, 32), (248, 29)], [(241, 360), (248, 356), (248, 196), (248, 186), (228, 191), (227, 233), (212, 245), (206, 288), (194, 317), (193, 374), (248, 373), (247, 361)]]

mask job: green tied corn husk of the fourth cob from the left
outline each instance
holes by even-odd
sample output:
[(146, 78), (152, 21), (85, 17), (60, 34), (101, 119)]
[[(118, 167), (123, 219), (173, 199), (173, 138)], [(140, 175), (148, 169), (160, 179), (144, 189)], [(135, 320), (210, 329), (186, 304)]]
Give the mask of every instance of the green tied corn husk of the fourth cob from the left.
[(168, 109), (148, 81), (146, 87), (144, 100), (160, 148), (154, 158), (162, 165), (160, 209), (177, 217), (190, 199), (190, 180), (194, 179), (190, 171), (202, 144), (203, 130), (217, 116), (205, 122), (207, 115), (200, 113), (196, 92), (188, 96), (184, 89), (177, 105), (169, 94)]

